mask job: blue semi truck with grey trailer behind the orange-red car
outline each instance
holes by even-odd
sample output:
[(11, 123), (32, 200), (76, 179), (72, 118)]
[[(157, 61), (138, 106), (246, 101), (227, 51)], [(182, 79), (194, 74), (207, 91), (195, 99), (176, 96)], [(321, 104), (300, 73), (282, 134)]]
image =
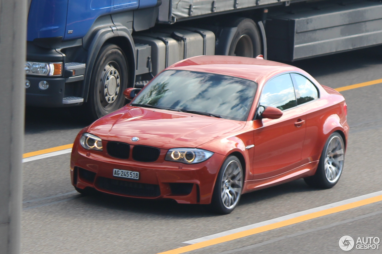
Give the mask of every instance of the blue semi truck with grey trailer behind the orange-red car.
[(197, 55), (291, 62), (382, 44), (366, 0), (29, 0), (26, 105), (95, 120)]

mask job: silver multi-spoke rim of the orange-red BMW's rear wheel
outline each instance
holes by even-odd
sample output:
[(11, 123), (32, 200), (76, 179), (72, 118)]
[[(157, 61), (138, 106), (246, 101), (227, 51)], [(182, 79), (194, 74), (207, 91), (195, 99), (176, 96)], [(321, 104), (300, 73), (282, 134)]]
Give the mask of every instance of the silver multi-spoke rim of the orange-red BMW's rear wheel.
[(342, 173), (344, 162), (344, 145), (340, 137), (333, 136), (325, 152), (325, 176), (330, 183), (337, 182)]

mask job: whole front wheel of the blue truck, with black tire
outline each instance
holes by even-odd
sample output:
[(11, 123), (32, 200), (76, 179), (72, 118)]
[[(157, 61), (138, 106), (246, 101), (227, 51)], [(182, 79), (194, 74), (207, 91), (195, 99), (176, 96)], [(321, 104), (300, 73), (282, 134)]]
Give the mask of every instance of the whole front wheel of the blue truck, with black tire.
[(89, 120), (109, 114), (125, 103), (123, 91), (128, 83), (128, 64), (120, 47), (105, 44), (95, 60), (86, 103)]

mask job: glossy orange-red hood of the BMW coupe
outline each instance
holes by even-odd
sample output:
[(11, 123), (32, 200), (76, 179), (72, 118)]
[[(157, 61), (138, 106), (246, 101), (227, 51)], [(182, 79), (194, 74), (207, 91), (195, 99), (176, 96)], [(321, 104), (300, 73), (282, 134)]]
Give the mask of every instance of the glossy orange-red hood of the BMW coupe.
[[(87, 131), (102, 140), (170, 149), (195, 148), (241, 130), (244, 125), (243, 121), (125, 106), (95, 121)], [(133, 137), (139, 140), (133, 142)]]

